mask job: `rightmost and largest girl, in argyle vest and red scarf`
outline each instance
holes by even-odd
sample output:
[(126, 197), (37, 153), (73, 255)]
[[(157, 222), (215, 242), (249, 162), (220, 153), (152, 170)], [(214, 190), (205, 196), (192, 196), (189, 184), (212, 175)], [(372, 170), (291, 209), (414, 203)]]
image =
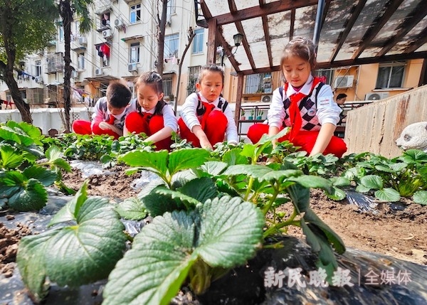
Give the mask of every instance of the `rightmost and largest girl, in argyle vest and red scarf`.
[(330, 85), (312, 76), (315, 65), (315, 46), (309, 39), (295, 38), (285, 46), (280, 67), (286, 82), (273, 92), (268, 124), (249, 128), (248, 138), (253, 143), (263, 134), (273, 136), (283, 127), (291, 127), (290, 133), (273, 145), (289, 140), (310, 156), (322, 153), (341, 157), (347, 151), (344, 141), (334, 136), (342, 109), (334, 102)]

